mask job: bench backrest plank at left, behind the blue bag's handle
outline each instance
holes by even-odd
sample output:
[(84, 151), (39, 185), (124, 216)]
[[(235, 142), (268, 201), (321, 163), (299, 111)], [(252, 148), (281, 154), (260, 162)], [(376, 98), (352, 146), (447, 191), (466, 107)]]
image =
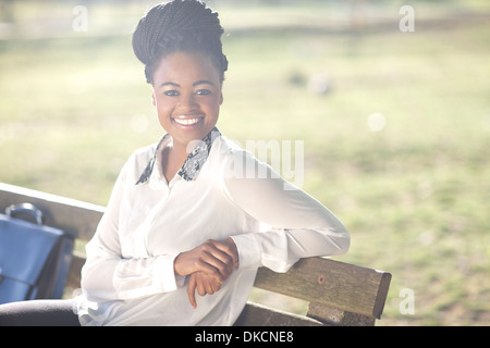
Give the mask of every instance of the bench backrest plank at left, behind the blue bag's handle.
[(0, 183), (0, 212), (17, 203), (33, 203), (47, 226), (60, 228), (87, 241), (102, 217), (103, 207)]

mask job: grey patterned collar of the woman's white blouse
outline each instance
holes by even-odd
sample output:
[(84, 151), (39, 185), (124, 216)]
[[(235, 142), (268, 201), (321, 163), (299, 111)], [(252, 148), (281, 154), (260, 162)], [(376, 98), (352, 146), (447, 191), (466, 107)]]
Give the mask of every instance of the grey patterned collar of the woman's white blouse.
[[(197, 176), (197, 174), (199, 174), (199, 171), (206, 163), (209, 157), (209, 152), (211, 151), (212, 142), (215, 141), (216, 138), (220, 136), (221, 136), (220, 130), (218, 129), (218, 127), (215, 126), (211, 129), (211, 132), (209, 132), (208, 135), (206, 135), (203, 138), (203, 140), (198, 141), (198, 144), (194, 147), (194, 149), (185, 159), (184, 164), (179, 170), (177, 175), (186, 182), (193, 181)], [(135, 185), (145, 184), (149, 181), (151, 173), (154, 171), (155, 162), (157, 160), (158, 150), (160, 149), (162, 144), (167, 144), (167, 141), (169, 140), (170, 140), (169, 134), (166, 134), (160, 139), (151, 159), (148, 162), (148, 165), (143, 171), (142, 175), (139, 176), (139, 179), (136, 182)]]

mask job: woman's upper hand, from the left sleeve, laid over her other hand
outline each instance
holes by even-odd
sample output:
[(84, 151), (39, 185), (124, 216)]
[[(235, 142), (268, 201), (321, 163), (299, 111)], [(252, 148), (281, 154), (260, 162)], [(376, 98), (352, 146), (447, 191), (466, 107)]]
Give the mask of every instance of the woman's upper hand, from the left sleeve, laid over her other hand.
[(232, 238), (223, 241), (209, 239), (203, 245), (180, 253), (174, 260), (176, 275), (204, 272), (220, 284), (228, 279), (238, 265), (238, 253)]

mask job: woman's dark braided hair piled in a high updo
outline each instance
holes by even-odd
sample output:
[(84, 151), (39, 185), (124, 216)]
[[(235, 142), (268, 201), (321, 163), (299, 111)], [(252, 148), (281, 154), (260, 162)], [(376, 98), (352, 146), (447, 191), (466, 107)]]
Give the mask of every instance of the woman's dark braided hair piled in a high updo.
[(145, 76), (152, 84), (160, 60), (173, 52), (201, 52), (211, 59), (221, 80), (228, 70), (222, 51), (218, 13), (197, 0), (173, 0), (154, 7), (133, 33), (133, 50), (145, 64)]

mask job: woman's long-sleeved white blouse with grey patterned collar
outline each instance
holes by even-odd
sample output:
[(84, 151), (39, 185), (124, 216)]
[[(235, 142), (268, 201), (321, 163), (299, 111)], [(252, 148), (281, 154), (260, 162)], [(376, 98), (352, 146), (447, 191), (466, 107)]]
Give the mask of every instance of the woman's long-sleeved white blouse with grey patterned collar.
[[(135, 151), (115, 183), (87, 244), (83, 325), (233, 325), (259, 266), (285, 272), (298, 259), (345, 252), (350, 236), (318, 200), (291, 189), (249, 152), (213, 130), (167, 182), (161, 152), (172, 141)], [(267, 175), (254, 175), (266, 171)], [(261, 172), (264, 173), (264, 172)], [(240, 266), (213, 295), (196, 294), (174, 274), (175, 257), (207, 239), (232, 237)]]

